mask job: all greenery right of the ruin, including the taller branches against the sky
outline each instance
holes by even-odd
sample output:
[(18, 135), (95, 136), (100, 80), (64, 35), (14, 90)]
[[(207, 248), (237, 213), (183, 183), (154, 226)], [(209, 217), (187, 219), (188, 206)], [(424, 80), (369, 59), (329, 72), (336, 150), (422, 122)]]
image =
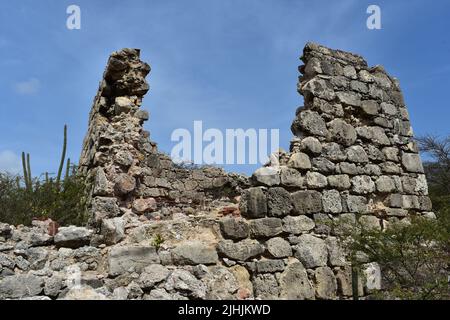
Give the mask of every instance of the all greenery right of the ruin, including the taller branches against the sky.
[(377, 298), (450, 299), (450, 136), (418, 142), (431, 159), (424, 169), (437, 219), (413, 216), (383, 231), (356, 225), (341, 235), (356, 268), (361, 253), (380, 265), (384, 288)]

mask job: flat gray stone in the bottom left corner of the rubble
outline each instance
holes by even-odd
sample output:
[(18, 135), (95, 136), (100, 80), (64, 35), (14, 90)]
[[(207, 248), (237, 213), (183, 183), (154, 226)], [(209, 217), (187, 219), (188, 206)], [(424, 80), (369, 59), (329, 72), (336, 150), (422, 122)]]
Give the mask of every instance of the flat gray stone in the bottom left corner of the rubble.
[(32, 274), (16, 274), (0, 281), (0, 298), (17, 299), (37, 296), (43, 288), (43, 278)]

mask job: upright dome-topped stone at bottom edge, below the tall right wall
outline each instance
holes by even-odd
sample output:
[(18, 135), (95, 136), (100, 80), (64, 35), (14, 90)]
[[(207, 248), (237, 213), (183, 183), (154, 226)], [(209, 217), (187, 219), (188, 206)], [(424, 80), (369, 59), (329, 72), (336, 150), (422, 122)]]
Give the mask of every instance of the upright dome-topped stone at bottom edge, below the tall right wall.
[(312, 287), (305, 267), (293, 260), (280, 275), (280, 298), (289, 300), (314, 299)]

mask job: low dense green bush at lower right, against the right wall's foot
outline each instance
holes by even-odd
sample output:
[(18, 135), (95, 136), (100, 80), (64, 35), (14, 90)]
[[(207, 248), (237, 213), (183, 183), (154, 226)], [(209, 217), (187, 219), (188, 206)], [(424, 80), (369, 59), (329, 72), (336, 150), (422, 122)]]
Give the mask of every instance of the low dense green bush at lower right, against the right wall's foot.
[(380, 265), (384, 288), (379, 297), (450, 299), (448, 228), (441, 220), (413, 217), (410, 224), (394, 223), (383, 231), (359, 229), (348, 248)]

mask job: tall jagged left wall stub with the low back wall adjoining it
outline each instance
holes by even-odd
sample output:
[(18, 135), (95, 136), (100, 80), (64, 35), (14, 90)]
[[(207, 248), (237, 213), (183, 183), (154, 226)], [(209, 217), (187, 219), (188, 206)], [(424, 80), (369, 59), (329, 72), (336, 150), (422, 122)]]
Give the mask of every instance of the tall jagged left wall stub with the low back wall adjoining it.
[[(143, 129), (149, 113), (141, 109), (149, 90), (150, 66), (139, 50), (123, 49), (108, 60), (94, 99), (80, 157), (80, 174), (88, 185), (90, 225), (122, 228), (117, 219), (126, 212), (150, 214), (161, 208), (201, 206), (222, 194), (238, 194), (245, 178), (222, 169), (188, 170), (158, 152)], [(161, 212), (161, 211), (159, 211)], [(159, 218), (170, 218), (165, 210)]]

